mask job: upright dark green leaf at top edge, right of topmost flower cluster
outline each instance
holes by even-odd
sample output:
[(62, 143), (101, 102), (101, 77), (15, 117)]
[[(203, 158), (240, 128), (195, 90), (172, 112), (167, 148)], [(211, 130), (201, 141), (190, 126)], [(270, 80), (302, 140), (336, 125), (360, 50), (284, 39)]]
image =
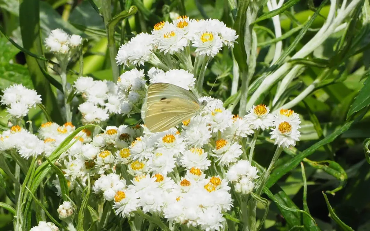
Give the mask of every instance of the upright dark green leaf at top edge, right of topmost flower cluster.
[(248, 9), (250, 0), (240, 0), (239, 7), (238, 7), (238, 14), (236, 15), (236, 20), (233, 26), (233, 29), (236, 31), (236, 34), (239, 37), (236, 39), (237, 43), (235, 43), (233, 52), (236, 62), (238, 62), (238, 66), (240, 71), (247, 72), (247, 54), (245, 52), (244, 46), (244, 32), (245, 32), (245, 22), (246, 22), (246, 11)]

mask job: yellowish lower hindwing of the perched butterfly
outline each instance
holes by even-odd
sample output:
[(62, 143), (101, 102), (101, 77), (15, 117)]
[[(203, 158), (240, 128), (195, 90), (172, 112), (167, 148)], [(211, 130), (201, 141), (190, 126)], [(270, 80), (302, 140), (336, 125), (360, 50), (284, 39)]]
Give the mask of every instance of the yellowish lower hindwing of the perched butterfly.
[(149, 106), (144, 122), (151, 132), (163, 132), (190, 119), (199, 108), (197, 102), (188, 99), (162, 99)]

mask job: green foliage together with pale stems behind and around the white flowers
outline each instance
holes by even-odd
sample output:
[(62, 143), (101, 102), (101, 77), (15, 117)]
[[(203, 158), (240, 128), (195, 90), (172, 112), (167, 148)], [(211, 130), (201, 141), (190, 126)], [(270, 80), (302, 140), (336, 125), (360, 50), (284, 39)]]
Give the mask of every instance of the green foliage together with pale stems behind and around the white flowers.
[[(357, 7), (345, 14), (352, 3)], [(45, 115), (63, 124), (60, 108), (72, 101), (74, 92), (61, 96), (58, 89), (81, 75), (117, 81), (123, 72), (115, 61), (118, 45), (178, 15), (216, 18), (239, 35), (233, 52), (225, 48), (209, 63), (206, 92), (235, 114), (264, 102), (273, 110), (287, 103), (302, 115), (301, 142), (285, 150), (268, 181), (271, 193), (264, 191), (271, 204), (262, 228), (307, 227), (308, 216), (301, 218), (285, 209), (289, 207), (312, 215), (317, 226), (309, 230), (369, 230), (370, 152), (369, 141), (363, 143), (370, 137), (368, 0), (333, 0), (332, 8), (328, 1), (313, 0), (0, 0), (0, 90), (17, 83), (41, 95), (44, 108), (30, 109), (24, 119), (33, 121), (28, 129), (40, 127)], [(337, 20), (341, 15), (344, 18)], [(66, 82), (60, 78), (62, 67), (41, 42), (56, 28), (84, 40), (66, 67)], [(2, 105), (2, 130), (8, 127), (6, 115)], [(117, 119), (132, 125), (139, 115)], [(255, 149), (255, 162), (268, 166), (274, 153), (270, 140), (258, 139)], [(300, 162), (305, 163), (307, 182), (296, 167)], [(14, 187), (0, 171), (0, 201), (11, 204)], [(58, 217), (59, 198), (54, 192), (44, 197), (50, 213)], [(262, 204), (257, 217), (263, 217)], [(13, 215), (0, 208), (0, 229), (13, 230), (12, 220)]]

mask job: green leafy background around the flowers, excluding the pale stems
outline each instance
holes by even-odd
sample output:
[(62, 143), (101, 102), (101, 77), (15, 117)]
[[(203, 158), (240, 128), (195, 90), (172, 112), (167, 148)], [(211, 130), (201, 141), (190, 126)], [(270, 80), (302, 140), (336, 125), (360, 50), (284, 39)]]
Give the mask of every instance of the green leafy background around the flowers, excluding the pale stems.
[[(180, 15), (186, 14), (194, 19), (217, 18), (233, 28), (238, 28), (238, 24), (234, 22), (235, 20), (239, 22), (240, 16), (236, 14), (236, 9), (230, 7), (227, 0), (117, 0), (112, 2), (113, 15), (129, 10), (131, 5), (138, 8), (134, 16), (120, 21), (115, 27), (116, 44), (128, 41), (133, 33), (150, 33), (155, 23), (169, 20), (171, 11), (176, 11)], [(289, 2), (294, 3), (294, 6), (280, 14), (284, 50), (291, 45), (302, 29), (302, 26), (297, 26), (297, 23), (305, 23), (313, 16), (315, 7), (321, 3), (312, 0)], [(240, 0), (239, 6), (243, 3), (244, 1)], [(369, 2), (366, 0), (363, 5), (369, 6)], [(111, 67), (105, 25), (102, 16), (94, 7), (100, 7), (99, 1), (0, 0), (2, 29), (0, 91), (14, 83), (36, 89), (39, 94), (42, 94), (43, 104), (46, 105), (46, 110), (53, 121), (63, 123), (55, 99), (56, 89), (60, 87), (60, 78), (53, 72), (55, 68), (51, 62), (53, 55), (44, 54), (46, 49), (41, 47), (41, 41), (55, 28), (79, 34), (87, 40), (82, 51), (84, 76), (112, 80), (114, 68)], [(323, 25), (328, 12), (329, 6), (323, 6), (293, 52), (299, 50), (313, 37), (317, 32), (316, 29)], [(264, 13), (268, 13), (267, 8), (260, 11), (259, 16), (266, 16)], [(361, 17), (366, 16), (366, 13), (369, 12), (363, 11)], [(266, 71), (273, 58), (276, 40), (272, 32), (272, 21), (269, 18), (260, 20), (255, 25), (258, 58), (252, 81)], [(297, 23), (293, 23), (294, 20)], [(298, 95), (326, 69), (329, 69), (329, 77), (304, 101), (292, 108), (303, 118), (300, 130), (301, 141), (296, 148), (285, 150), (268, 181), (270, 190), (265, 188), (264, 197), (273, 201), (263, 226), (265, 230), (289, 230), (288, 227), (299, 230), (303, 224), (310, 227), (309, 230), (370, 230), (370, 152), (367, 148), (369, 140), (364, 143), (366, 158), (363, 146), (364, 140), (370, 137), (368, 111), (370, 27), (368, 24), (363, 24), (363, 21), (356, 18), (347, 20), (351, 23), (351, 27), (333, 34), (313, 54), (310, 54), (308, 59), (300, 61), (306, 65), (306, 68), (292, 82), (289, 98)], [(37, 29), (36, 32), (33, 31), (34, 28)], [(20, 51), (5, 35), (25, 50)], [(26, 40), (25, 43), (22, 36), (29, 36), (30, 40)], [(242, 37), (242, 35), (239, 36)], [(343, 44), (344, 46), (341, 46)], [(234, 49), (237, 59), (243, 58), (243, 55), (245, 58), (245, 54), (240, 52), (242, 48), (243, 43), (239, 42), (236, 50)], [(38, 58), (30, 56), (27, 51), (38, 55)], [(42, 60), (43, 58), (40, 59), (40, 57), (46, 59)], [(47, 61), (50, 59), (51, 61)], [(239, 67), (241, 70), (246, 68), (240, 65)], [(70, 69), (68, 81), (72, 83), (81, 71), (79, 58), (71, 62), (68, 68)], [(234, 113), (238, 113), (239, 105), (238, 101), (235, 101), (237, 95), (231, 96), (232, 69), (232, 53), (229, 49), (225, 49), (209, 65), (205, 83), (206, 90), (210, 91), (213, 97), (231, 103), (229, 108), (233, 109)], [(122, 69), (120, 68), (119, 71), (122, 72)], [(276, 86), (273, 86), (271, 92), (275, 91)], [(238, 94), (240, 97), (240, 92)], [(266, 95), (263, 102), (271, 103), (272, 95)], [(124, 118), (122, 122), (133, 124), (138, 119), (134, 116), (130, 119)], [(46, 118), (41, 109), (36, 108), (30, 112), (26, 120), (33, 121), (27, 126), (37, 129), (46, 121)], [(0, 129), (6, 128), (6, 109), (2, 106)], [(268, 166), (273, 152), (274, 146), (271, 140), (259, 140), (256, 145), (256, 163)], [(305, 164), (307, 182), (302, 178), (300, 162)], [(0, 202), (11, 204), (11, 200), (14, 200), (12, 181), (3, 171), (0, 170), (0, 172)], [(22, 177), (25, 179), (26, 176)], [(307, 184), (307, 192), (304, 190), (305, 184)], [(53, 217), (57, 217), (55, 207), (57, 204), (53, 204), (52, 201), (58, 200), (55, 193), (47, 195), (45, 206)], [(328, 201), (331, 207), (327, 205)], [(288, 211), (283, 208), (284, 206), (305, 210), (312, 215), (317, 225), (312, 223), (308, 215)], [(262, 217), (262, 215), (262, 209), (258, 210), (257, 216)], [(6, 208), (0, 208), (0, 230), (12, 230), (12, 220), (12, 214)]]

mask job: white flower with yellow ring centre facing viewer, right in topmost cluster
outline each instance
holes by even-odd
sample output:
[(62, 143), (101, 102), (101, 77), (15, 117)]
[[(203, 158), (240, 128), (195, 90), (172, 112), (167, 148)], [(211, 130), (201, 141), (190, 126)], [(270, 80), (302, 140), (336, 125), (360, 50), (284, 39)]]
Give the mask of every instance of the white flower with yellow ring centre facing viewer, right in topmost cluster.
[(200, 55), (215, 56), (222, 48), (221, 38), (212, 31), (204, 31), (195, 35), (193, 47), (196, 47), (195, 52)]

